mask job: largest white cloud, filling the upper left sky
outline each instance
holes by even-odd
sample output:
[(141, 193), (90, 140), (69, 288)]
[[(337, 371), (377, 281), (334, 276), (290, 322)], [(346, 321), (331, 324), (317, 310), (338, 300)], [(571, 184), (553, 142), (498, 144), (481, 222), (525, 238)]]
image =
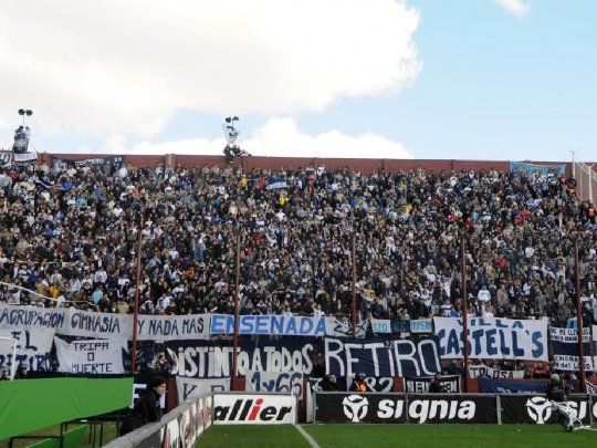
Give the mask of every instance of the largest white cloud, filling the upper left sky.
[(3, 2), (0, 122), (149, 139), (176, 111), (290, 114), (421, 70), (406, 0)]

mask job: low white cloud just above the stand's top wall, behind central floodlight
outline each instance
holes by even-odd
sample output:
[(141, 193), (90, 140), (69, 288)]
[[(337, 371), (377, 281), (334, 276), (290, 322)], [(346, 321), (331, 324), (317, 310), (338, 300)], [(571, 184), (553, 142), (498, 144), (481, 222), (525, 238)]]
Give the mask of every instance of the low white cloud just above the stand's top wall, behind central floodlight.
[[(338, 158), (412, 158), (399, 142), (376, 134), (356, 137), (338, 131), (318, 135), (303, 133), (292, 118), (271, 118), (240, 146), (254, 156), (338, 157)], [(153, 144), (143, 142), (126, 154), (196, 154), (221, 155), (223, 138), (201, 138)], [(118, 152), (113, 149), (113, 152)]]

